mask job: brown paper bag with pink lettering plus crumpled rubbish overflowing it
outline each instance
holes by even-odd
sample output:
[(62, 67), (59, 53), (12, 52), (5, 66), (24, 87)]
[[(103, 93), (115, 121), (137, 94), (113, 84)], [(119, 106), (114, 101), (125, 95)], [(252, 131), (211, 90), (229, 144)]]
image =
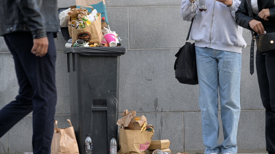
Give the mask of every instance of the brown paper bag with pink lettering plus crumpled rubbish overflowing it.
[(136, 117), (136, 111), (124, 110), (117, 121), (119, 128), (119, 154), (145, 154), (154, 135), (154, 127), (147, 124), (147, 118)]

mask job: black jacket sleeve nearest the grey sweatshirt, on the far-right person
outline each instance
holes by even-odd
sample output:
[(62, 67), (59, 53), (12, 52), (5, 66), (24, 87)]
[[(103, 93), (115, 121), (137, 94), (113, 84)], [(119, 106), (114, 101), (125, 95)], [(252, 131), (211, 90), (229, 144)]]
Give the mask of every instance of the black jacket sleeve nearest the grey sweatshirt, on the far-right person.
[(249, 12), (247, 8), (248, 6), (246, 3), (246, 0), (241, 1), (241, 4), (238, 10), (235, 13), (235, 20), (239, 26), (252, 30), (249, 26), (249, 21), (254, 18), (249, 16)]

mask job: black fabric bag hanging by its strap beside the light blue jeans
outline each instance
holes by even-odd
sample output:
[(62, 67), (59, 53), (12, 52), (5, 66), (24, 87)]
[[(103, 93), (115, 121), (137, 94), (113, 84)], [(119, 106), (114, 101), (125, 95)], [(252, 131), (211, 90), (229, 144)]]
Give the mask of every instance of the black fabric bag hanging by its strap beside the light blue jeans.
[(193, 20), (194, 18), (191, 21), (185, 45), (180, 48), (177, 54), (175, 54), (175, 57), (177, 57), (177, 59), (174, 65), (175, 77), (180, 83), (188, 85), (199, 84), (196, 65), (195, 43), (191, 44), (190, 42), (188, 42)]

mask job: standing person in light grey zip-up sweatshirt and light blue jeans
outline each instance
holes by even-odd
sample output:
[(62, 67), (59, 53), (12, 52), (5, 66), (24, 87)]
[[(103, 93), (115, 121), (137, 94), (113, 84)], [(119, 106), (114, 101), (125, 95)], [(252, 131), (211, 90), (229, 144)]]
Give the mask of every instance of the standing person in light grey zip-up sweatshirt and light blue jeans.
[[(205, 0), (200, 11), (197, 0), (182, 0), (180, 14), (194, 18), (191, 40), (195, 40), (199, 105), (205, 154), (236, 154), (240, 117), (241, 52), (246, 47), (242, 27), (235, 23), (241, 1)], [(218, 92), (224, 141), (219, 144)]]

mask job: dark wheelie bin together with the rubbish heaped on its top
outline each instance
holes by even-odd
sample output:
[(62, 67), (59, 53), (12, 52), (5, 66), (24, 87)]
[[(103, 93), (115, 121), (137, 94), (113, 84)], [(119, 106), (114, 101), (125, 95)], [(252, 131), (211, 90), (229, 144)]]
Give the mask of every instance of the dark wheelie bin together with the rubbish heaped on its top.
[[(84, 4), (85, 3), (85, 4)], [(88, 4), (86, 4), (88, 3)], [(78, 5), (79, 4), (79, 5)], [(105, 1), (77, 1), (58, 9), (70, 86), (71, 122), (80, 154), (109, 153), (118, 139), (119, 57), (121, 38), (111, 31)], [(85, 143), (87, 136), (91, 141)]]

